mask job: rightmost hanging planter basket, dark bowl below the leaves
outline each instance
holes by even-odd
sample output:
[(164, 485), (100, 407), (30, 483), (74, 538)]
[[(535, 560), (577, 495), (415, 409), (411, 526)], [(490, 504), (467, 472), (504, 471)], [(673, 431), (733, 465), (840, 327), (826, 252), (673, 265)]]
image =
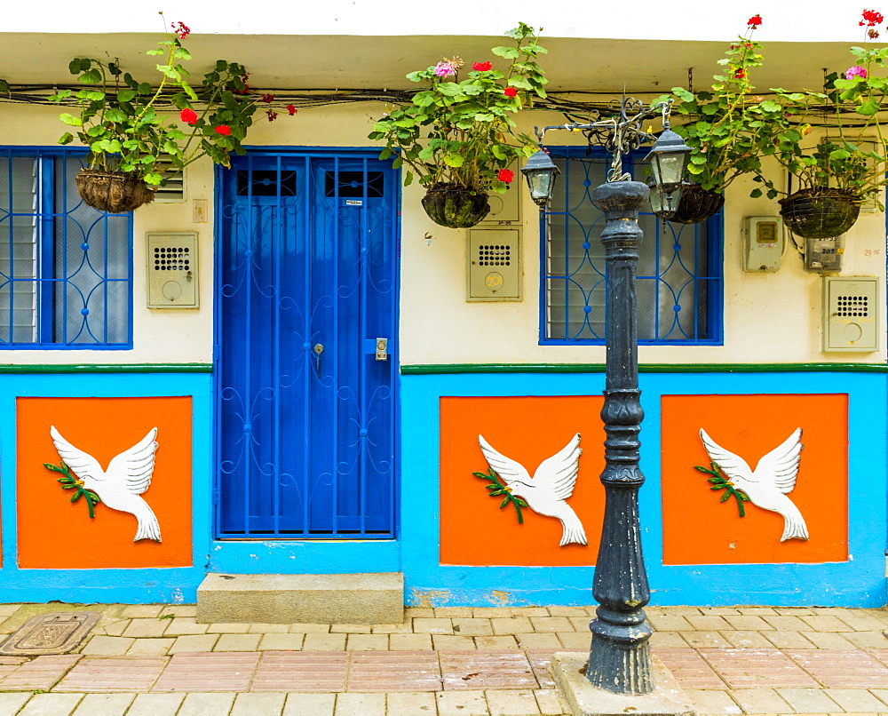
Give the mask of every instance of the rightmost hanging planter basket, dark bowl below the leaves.
[(831, 239), (854, 226), (860, 197), (841, 189), (801, 189), (780, 200), (780, 215), (789, 230), (803, 239)]

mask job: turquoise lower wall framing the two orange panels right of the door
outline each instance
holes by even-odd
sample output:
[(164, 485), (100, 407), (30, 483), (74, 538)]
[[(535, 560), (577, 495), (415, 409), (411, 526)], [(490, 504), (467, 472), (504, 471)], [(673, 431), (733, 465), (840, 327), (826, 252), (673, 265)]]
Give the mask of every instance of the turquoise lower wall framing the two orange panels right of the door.
[[(881, 373), (642, 373), (642, 538), (652, 604), (875, 607), (885, 588), (886, 378)], [(403, 570), (408, 601), (490, 606), (589, 604), (593, 568), (440, 565), (435, 480), (443, 395), (600, 394), (602, 373), (408, 375), (401, 379)], [(674, 394), (849, 394), (849, 553), (828, 564), (662, 564), (660, 398)], [(584, 449), (594, 449), (589, 445)], [(467, 525), (466, 529), (471, 529)], [(507, 545), (503, 545), (507, 548)]]

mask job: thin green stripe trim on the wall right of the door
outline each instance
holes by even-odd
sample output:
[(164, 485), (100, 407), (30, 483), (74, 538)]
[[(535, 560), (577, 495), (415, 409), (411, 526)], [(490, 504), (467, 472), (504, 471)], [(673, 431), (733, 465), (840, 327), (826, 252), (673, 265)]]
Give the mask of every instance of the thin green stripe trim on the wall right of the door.
[[(406, 376), (456, 373), (603, 373), (604, 363), (440, 363), (402, 365)], [(883, 363), (646, 363), (639, 373), (888, 373)]]

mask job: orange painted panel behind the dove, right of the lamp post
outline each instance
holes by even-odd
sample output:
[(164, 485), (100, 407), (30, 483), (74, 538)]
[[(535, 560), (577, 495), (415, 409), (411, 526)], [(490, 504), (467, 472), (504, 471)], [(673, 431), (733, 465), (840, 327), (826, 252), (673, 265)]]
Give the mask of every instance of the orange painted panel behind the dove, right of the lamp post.
[[(700, 429), (756, 469), (758, 460), (802, 428), (801, 463), (788, 496), (808, 540), (781, 542), (783, 517), (709, 489)], [(664, 395), (662, 397), (664, 564), (829, 562), (848, 559), (848, 396)]]

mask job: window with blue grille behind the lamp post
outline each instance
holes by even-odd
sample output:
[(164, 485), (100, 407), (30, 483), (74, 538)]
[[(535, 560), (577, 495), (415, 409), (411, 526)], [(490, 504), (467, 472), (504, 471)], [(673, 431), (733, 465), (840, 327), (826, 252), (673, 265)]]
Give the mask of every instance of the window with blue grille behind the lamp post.
[[(541, 216), (543, 281), (540, 342), (602, 344), (605, 339), (604, 215), (592, 203), (610, 158), (586, 147), (550, 147), (561, 171)], [(646, 151), (625, 159), (639, 181)], [(671, 224), (650, 212), (638, 260), (638, 342), (713, 345), (722, 342), (722, 214), (702, 224)]]

